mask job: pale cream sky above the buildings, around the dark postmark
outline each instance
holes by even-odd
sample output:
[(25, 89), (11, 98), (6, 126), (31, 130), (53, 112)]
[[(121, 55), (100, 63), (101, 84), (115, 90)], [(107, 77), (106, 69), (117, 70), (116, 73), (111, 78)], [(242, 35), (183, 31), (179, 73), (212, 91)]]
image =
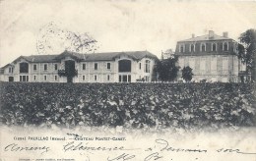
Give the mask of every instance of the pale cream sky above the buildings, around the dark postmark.
[[(178, 40), (216, 34), (238, 40), (240, 33), (256, 28), (256, 1), (192, 0), (1, 0), (0, 67), (21, 55), (41, 54), (36, 42), (53, 23), (55, 29), (89, 33), (96, 52), (175, 50)], [(48, 35), (54, 39), (58, 35)], [(64, 49), (51, 42), (46, 54)], [(59, 47), (57, 47), (59, 46)]]

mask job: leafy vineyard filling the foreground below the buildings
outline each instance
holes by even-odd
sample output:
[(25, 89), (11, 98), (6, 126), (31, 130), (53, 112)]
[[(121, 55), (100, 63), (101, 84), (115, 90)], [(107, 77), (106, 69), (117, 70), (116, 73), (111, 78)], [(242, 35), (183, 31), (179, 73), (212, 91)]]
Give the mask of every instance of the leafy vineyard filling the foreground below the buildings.
[(256, 126), (254, 83), (0, 82), (6, 126), (123, 129)]

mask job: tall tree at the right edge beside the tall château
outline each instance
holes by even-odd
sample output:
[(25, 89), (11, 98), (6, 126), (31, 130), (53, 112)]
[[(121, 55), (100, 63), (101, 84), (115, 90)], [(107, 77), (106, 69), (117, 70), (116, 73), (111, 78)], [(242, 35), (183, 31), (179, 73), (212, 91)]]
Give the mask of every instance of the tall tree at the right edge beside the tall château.
[(256, 29), (247, 29), (239, 36), (239, 58), (246, 64), (246, 74), (252, 74), (252, 80), (256, 80)]

